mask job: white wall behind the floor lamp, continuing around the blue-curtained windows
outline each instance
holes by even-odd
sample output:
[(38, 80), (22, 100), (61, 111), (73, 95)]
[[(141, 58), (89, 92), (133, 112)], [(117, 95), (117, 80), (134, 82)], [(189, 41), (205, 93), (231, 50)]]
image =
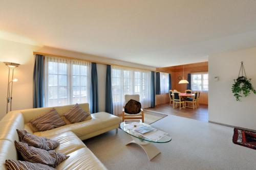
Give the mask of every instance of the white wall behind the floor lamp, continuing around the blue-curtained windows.
[[(130, 67), (138, 67), (144, 69), (155, 69), (155, 67), (129, 63), (114, 59), (108, 59), (89, 54), (76, 53), (58, 48), (47, 46), (35, 46), (9, 40), (0, 39), (0, 119), (6, 113), (6, 95), (8, 82), (8, 67), (4, 65), (6, 62), (15, 62), (21, 64), (15, 69), (14, 77), (18, 79), (13, 86), (13, 109), (27, 109), (33, 107), (33, 52), (49, 53), (67, 57), (94, 60), (111, 64), (120, 64)], [(97, 64), (98, 88), (99, 88), (99, 111), (105, 110), (105, 74), (106, 65)]]

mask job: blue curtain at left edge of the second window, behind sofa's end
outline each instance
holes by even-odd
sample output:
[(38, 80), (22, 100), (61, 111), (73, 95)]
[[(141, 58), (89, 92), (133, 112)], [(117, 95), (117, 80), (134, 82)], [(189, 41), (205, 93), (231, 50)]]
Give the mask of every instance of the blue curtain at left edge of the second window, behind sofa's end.
[(106, 65), (106, 92), (105, 92), (105, 112), (113, 114), (111, 65)]

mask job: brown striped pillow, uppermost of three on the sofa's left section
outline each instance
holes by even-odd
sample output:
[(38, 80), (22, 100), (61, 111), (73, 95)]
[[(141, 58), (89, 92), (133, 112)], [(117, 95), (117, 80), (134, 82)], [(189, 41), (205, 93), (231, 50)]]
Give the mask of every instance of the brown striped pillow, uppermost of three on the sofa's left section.
[(46, 137), (39, 137), (28, 133), (26, 130), (17, 130), (19, 141), (28, 143), (30, 147), (40, 148), (43, 150), (53, 150), (58, 147), (57, 140), (47, 139)]

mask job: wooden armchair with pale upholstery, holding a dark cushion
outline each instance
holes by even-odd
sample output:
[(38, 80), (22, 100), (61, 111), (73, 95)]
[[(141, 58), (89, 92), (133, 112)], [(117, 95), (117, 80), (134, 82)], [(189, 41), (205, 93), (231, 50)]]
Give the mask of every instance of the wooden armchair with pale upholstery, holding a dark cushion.
[[(140, 95), (139, 94), (125, 94), (124, 95), (124, 103), (126, 104), (130, 100), (135, 100), (137, 102), (140, 102)], [(122, 122), (124, 120), (134, 120), (134, 119), (141, 119), (141, 122), (144, 123), (144, 111), (141, 108), (141, 111), (138, 114), (129, 114), (124, 112), (124, 106), (123, 106), (123, 111), (122, 111)]]

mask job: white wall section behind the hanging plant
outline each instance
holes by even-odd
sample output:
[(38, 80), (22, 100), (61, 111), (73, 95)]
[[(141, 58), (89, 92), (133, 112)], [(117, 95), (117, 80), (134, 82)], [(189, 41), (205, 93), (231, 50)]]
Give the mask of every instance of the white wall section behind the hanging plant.
[[(209, 121), (256, 130), (256, 95), (237, 102), (231, 92), (241, 61), (256, 89), (256, 47), (209, 56)], [(219, 81), (214, 81), (215, 76)]]

